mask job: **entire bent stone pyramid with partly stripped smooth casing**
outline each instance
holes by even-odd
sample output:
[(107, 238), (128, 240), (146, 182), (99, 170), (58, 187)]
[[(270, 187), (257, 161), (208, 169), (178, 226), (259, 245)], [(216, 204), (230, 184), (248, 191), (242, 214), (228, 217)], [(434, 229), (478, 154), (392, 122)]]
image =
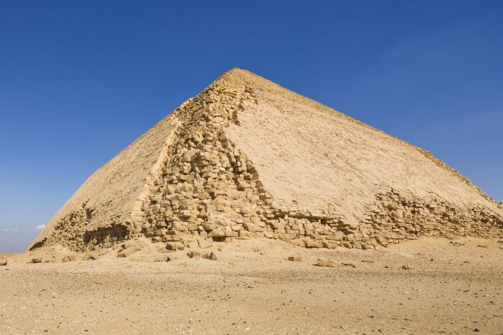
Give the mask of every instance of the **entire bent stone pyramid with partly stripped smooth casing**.
[(94, 172), (29, 248), (136, 237), (374, 248), (502, 231), (501, 202), (428, 151), (233, 69)]

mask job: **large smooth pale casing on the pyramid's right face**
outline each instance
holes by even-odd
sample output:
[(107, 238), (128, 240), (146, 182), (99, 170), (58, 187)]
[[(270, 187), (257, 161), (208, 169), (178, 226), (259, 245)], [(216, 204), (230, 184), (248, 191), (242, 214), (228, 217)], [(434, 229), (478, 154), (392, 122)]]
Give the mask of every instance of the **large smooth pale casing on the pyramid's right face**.
[(235, 76), (256, 89), (257, 104), (226, 133), (254, 163), (282, 207), (334, 209), (359, 218), (381, 188), (449, 200), (461, 210), (495, 202), (428, 152), (258, 76)]

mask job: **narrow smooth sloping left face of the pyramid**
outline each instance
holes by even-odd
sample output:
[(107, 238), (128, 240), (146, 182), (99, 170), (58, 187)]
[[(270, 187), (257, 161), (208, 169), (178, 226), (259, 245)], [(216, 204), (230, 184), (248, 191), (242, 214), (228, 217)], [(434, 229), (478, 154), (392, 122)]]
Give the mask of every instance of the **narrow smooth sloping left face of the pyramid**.
[(163, 118), (96, 170), (54, 214), (29, 248), (43, 241), (83, 244), (86, 232), (100, 229), (115, 230), (119, 237), (126, 234), (120, 223), (129, 220), (136, 202), (145, 197), (152, 170), (175, 126), (174, 116)]

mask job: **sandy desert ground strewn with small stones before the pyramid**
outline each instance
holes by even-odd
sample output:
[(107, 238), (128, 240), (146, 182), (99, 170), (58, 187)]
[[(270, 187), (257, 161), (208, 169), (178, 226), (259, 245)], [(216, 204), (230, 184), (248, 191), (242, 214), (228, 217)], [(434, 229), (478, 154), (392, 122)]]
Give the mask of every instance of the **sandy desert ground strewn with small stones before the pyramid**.
[[(0, 334), (503, 334), (503, 241), (209, 250), (217, 260), (154, 245), (72, 262), (64, 250), (0, 255)], [(177, 259), (154, 262), (167, 255)], [(36, 256), (44, 262), (27, 263)]]

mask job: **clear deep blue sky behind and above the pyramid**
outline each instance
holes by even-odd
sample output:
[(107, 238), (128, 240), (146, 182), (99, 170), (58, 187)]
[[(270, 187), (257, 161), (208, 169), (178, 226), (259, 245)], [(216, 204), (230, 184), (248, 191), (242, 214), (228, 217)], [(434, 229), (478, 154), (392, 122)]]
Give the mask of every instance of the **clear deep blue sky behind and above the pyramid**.
[(503, 200), (503, 1), (1, 1), (0, 252), (245, 68), (423, 147)]

